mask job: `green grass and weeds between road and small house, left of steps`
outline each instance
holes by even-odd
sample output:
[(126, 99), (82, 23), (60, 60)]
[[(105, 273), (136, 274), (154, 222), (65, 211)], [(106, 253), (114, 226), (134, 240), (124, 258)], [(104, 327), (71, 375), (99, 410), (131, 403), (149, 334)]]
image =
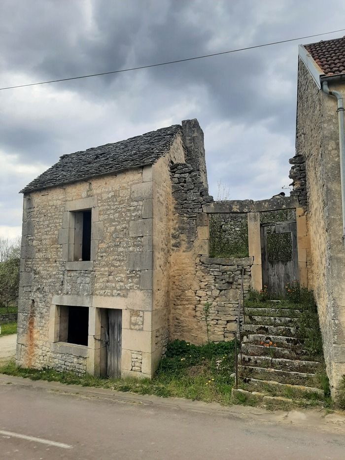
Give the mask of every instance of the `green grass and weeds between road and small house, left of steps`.
[[(218, 361), (218, 363), (217, 363)], [(184, 341), (174, 341), (168, 346), (155, 377), (107, 379), (90, 375), (77, 376), (73, 372), (53, 369), (24, 369), (13, 362), (0, 367), (0, 373), (47, 380), (83, 387), (107, 388), (139, 394), (155, 394), (161, 397), (184, 397), (206, 402), (229, 405), (234, 380), (234, 343), (209, 344), (202, 347)]]

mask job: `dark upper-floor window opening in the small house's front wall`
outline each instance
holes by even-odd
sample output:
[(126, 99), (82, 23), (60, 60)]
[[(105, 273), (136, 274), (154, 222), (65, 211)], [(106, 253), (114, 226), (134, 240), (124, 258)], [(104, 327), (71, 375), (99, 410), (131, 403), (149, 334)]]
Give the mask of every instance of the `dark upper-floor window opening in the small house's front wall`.
[(74, 260), (90, 260), (91, 209), (74, 212)]

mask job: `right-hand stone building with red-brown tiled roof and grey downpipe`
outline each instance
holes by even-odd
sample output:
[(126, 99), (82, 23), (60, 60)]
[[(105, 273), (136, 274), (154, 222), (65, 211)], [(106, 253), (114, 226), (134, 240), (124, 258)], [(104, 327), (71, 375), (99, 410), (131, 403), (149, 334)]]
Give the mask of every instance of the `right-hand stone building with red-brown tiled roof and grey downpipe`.
[(314, 291), (333, 391), (345, 374), (345, 37), (299, 47), (296, 156), (290, 177), (306, 212)]

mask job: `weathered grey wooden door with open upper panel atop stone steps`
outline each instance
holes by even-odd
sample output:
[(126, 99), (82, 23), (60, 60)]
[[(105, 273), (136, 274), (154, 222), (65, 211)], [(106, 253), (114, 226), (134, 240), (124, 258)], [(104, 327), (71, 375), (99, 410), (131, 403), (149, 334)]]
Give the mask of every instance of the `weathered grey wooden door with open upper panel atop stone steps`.
[(261, 224), (262, 284), (285, 297), (286, 283), (299, 280), (296, 221)]

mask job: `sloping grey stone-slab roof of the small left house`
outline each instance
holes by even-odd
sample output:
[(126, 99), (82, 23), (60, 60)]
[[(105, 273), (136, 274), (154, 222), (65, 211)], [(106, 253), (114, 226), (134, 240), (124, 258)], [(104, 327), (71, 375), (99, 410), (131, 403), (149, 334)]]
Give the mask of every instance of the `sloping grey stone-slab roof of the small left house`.
[(172, 125), (126, 141), (63, 155), (58, 163), (35, 178), (20, 192), (31, 192), (94, 176), (152, 165), (168, 152), (175, 137), (181, 132), (180, 125)]

